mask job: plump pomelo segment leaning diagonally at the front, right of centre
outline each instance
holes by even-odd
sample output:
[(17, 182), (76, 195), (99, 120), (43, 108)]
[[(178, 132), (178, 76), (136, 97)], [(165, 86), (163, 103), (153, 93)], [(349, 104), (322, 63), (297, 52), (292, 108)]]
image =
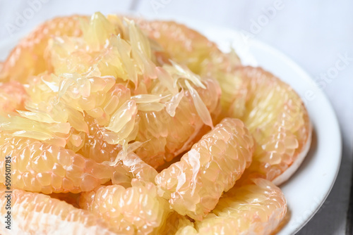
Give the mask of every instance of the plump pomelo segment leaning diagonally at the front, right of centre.
[(180, 215), (202, 220), (249, 167), (253, 148), (244, 123), (225, 118), (179, 162), (157, 174), (160, 196)]

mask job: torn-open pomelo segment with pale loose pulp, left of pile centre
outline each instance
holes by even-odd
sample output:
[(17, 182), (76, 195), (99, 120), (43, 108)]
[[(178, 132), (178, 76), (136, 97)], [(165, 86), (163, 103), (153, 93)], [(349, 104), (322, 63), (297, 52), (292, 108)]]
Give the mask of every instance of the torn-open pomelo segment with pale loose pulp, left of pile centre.
[(35, 134), (28, 137), (44, 141), (57, 137), (61, 146), (102, 162), (116, 155), (120, 149), (116, 144), (131, 136), (133, 129), (129, 127), (135, 122), (136, 102), (130, 99), (130, 89), (115, 84), (114, 77), (43, 74), (29, 79), (27, 91), (30, 99), (25, 108), (30, 111), (20, 113), (24, 118), (21, 122), (70, 128), (64, 136), (46, 129), (48, 137), (45, 139)]

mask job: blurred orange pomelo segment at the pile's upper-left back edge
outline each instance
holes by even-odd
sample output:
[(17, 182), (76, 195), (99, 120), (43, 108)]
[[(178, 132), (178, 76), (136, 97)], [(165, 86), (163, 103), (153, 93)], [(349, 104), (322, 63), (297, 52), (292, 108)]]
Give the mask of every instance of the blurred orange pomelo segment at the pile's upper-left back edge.
[(37, 27), (20, 41), (4, 61), (0, 70), (0, 80), (25, 83), (30, 75), (39, 75), (49, 70), (49, 61), (44, 56), (49, 39), (63, 35), (80, 36), (82, 34), (80, 19), (87, 20), (85, 17), (73, 15), (54, 18)]

